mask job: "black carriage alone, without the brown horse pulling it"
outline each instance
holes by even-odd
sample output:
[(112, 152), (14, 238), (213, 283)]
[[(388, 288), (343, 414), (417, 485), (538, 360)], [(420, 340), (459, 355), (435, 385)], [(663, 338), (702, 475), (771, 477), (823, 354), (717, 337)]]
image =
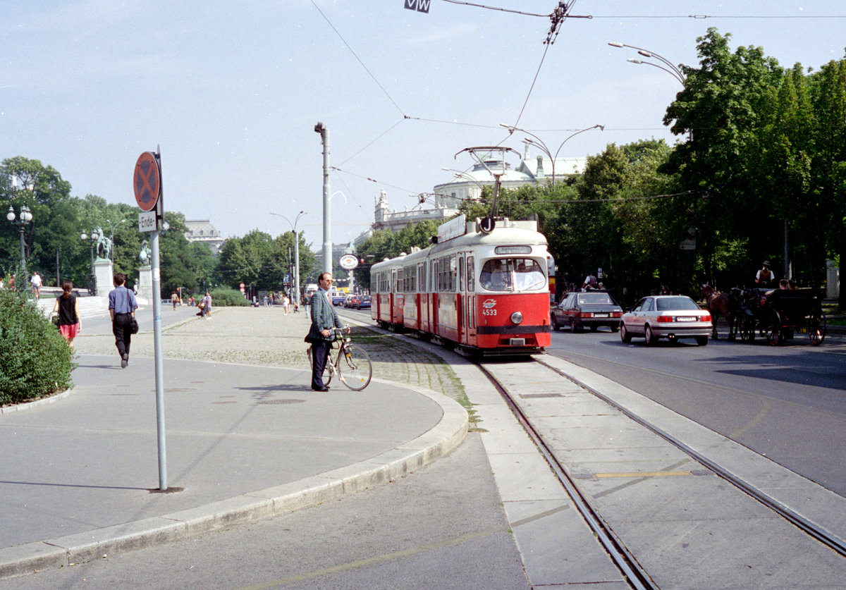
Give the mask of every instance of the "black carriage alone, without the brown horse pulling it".
[(795, 333), (807, 334), (819, 346), (826, 337), (819, 289), (746, 289), (739, 294), (734, 323), (740, 340), (755, 340), (755, 330), (772, 345), (783, 344)]

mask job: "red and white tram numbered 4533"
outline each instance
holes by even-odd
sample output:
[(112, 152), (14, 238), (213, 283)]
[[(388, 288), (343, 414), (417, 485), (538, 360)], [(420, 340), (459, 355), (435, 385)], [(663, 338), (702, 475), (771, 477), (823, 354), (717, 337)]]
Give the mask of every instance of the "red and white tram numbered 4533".
[(431, 247), (373, 265), (372, 319), (465, 352), (549, 346), (547, 238), (536, 221), (497, 219), (487, 232), (480, 225), (456, 217)]

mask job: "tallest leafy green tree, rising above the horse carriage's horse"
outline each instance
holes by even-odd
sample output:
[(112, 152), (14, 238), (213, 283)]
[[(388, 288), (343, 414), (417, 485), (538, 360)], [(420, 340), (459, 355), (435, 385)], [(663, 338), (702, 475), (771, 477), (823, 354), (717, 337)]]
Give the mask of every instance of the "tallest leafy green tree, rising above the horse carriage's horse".
[[(717, 272), (721, 246), (745, 237), (752, 259), (777, 253), (781, 225), (772, 204), (755, 191), (750, 145), (762, 127), (772, 89), (783, 68), (761, 47), (731, 52), (731, 36), (709, 29), (697, 39), (700, 67), (684, 66), (684, 90), (667, 107), (664, 123), (689, 140), (676, 146), (662, 170), (678, 174), (682, 188), (707, 194), (695, 211), (697, 254), (706, 276)], [(744, 215), (738, 215), (738, 211)]]

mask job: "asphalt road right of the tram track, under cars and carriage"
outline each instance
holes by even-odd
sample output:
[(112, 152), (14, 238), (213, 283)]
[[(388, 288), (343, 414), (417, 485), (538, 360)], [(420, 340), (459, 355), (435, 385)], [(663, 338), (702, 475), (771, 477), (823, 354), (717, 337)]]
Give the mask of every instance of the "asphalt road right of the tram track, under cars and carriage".
[(631, 344), (606, 328), (552, 332), (547, 352), (628, 386), (846, 496), (846, 338), (820, 347), (659, 341)]

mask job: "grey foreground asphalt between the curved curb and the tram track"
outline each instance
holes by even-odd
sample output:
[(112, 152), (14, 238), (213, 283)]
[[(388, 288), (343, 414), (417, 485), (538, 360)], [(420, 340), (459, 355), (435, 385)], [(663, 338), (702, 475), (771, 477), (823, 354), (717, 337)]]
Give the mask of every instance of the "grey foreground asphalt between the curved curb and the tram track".
[[(8, 585), (8, 586), (7, 586)], [(478, 434), (409, 478), (0, 582), (26, 588), (528, 588)]]

